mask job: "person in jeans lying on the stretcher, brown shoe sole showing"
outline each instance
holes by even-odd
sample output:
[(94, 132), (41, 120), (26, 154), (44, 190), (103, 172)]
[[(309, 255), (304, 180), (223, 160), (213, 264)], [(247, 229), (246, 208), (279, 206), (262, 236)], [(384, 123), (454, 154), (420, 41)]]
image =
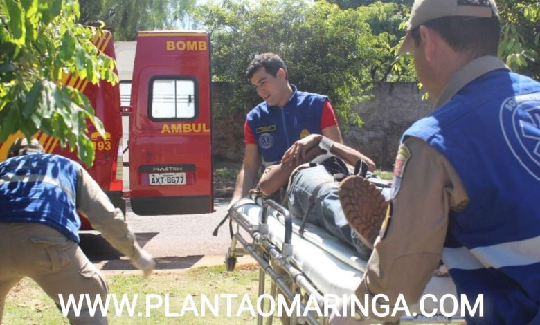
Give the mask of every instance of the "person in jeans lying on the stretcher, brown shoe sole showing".
[[(354, 174), (363, 175), (349, 176), (343, 161), (357, 167)], [(377, 178), (371, 171), (375, 163), (370, 158), (313, 134), (291, 146), (281, 163), (268, 167), (258, 189), (282, 201), (291, 215), (303, 219), (303, 225), (309, 222), (324, 228), (367, 260), (389, 196), (389, 189), (381, 192), (370, 182)]]

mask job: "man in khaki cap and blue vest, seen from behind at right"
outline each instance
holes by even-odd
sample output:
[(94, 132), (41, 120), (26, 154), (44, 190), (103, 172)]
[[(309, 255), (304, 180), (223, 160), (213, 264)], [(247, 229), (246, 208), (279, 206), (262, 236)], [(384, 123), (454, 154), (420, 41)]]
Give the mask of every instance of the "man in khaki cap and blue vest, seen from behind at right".
[(442, 259), (483, 299), (468, 324), (540, 324), (540, 83), (496, 57), (500, 30), (493, 0), (415, 0), (399, 53), (435, 110), (402, 136), (359, 299), (415, 303)]

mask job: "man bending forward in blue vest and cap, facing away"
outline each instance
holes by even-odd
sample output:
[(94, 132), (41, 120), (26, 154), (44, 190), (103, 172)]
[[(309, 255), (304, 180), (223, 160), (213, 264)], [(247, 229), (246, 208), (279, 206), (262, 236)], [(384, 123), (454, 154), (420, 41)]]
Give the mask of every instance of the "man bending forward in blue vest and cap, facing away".
[[(0, 163), (0, 207), (0, 323), (6, 295), (23, 277), (34, 279), (57, 306), (59, 295), (64, 302), (70, 294), (75, 301), (84, 294), (105, 301), (105, 278), (78, 245), (78, 212), (145, 276), (154, 270), (98, 183), (73, 160), (44, 154), (36, 139), (17, 139)], [(86, 301), (80, 315), (69, 310), (70, 323), (107, 324), (99, 312), (91, 315)]]

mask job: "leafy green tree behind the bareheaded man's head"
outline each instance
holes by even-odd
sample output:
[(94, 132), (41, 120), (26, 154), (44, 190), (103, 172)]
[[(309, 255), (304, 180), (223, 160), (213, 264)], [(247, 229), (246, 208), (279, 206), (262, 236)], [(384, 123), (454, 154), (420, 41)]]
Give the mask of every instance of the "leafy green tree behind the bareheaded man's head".
[(213, 80), (232, 83), (225, 111), (246, 111), (260, 102), (245, 79), (249, 62), (264, 52), (280, 55), (298, 89), (330, 97), (341, 124), (359, 123), (351, 106), (372, 86), (371, 67), (390, 50), (392, 35), (374, 35), (368, 20), (392, 12), (387, 3), (341, 10), (325, 1), (224, 1), (201, 7), (199, 19), (212, 32)]

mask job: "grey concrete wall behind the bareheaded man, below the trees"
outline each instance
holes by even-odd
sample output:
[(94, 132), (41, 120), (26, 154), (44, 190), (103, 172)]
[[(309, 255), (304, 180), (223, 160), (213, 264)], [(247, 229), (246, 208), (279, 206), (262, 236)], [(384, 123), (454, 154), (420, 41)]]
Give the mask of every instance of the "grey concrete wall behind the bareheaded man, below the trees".
[[(214, 156), (241, 161), (244, 157), (245, 113), (219, 113), (222, 98), (231, 93), (226, 84), (213, 84)], [(353, 109), (364, 124), (343, 133), (344, 142), (375, 160), (380, 167), (392, 167), (399, 138), (415, 120), (429, 113), (431, 101), (422, 101), (423, 93), (415, 83), (378, 83), (370, 92), (375, 97)]]

